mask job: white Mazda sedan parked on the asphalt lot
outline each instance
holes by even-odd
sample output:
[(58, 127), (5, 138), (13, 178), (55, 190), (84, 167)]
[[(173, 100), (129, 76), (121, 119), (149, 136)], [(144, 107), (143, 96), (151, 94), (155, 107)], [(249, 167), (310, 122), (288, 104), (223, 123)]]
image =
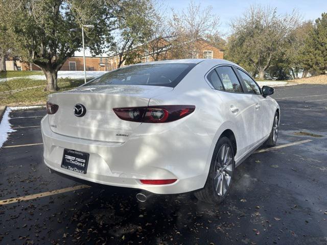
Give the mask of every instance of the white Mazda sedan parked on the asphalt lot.
[[(221, 202), (235, 167), (277, 140), (279, 106), (220, 59), (141, 63), (49, 95), (44, 163), (65, 176)], [(146, 194), (138, 199), (146, 200)]]

